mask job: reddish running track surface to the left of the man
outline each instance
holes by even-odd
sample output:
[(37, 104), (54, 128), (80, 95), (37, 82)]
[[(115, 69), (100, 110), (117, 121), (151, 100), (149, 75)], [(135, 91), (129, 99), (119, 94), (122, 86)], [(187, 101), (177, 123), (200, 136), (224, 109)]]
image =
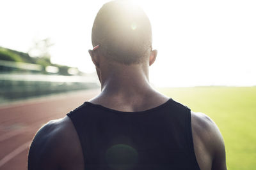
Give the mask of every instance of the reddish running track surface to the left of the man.
[(0, 169), (27, 169), (28, 148), (36, 131), (52, 119), (65, 117), (100, 89), (86, 90), (0, 108)]

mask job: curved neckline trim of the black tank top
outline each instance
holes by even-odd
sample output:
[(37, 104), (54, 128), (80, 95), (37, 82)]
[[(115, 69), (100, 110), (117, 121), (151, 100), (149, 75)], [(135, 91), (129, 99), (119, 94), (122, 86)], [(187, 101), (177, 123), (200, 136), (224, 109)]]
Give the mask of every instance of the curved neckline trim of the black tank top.
[(114, 110), (114, 109), (102, 106), (100, 104), (90, 103), (89, 101), (85, 101), (84, 104), (88, 104), (90, 106), (93, 106), (93, 107), (96, 107), (96, 108), (101, 108), (102, 110), (106, 110), (106, 111), (110, 111), (110, 112), (114, 112), (114, 113), (128, 114), (128, 115), (134, 115), (134, 114), (138, 115), (138, 114), (150, 113), (150, 112), (155, 111), (155, 110), (157, 110), (159, 108), (163, 108), (164, 106), (166, 106), (171, 101), (173, 101), (173, 99), (169, 98), (168, 101), (166, 101), (165, 103), (160, 104), (159, 106), (156, 106), (154, 108), (150, 108), (148, 110), (143, 110), (143, 111), (120, 111), (120, 110)]

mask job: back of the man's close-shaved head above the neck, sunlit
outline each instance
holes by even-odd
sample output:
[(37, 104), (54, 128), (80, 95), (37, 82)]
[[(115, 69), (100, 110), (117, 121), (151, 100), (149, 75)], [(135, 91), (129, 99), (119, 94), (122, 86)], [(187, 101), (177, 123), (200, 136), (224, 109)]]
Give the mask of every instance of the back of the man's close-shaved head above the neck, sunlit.
[(92, 45), (104, 57), (125, 65), (140, 64), (150, 55), (152, 31), (145, 12), (129, 1), (110, 1), (93, 23)]

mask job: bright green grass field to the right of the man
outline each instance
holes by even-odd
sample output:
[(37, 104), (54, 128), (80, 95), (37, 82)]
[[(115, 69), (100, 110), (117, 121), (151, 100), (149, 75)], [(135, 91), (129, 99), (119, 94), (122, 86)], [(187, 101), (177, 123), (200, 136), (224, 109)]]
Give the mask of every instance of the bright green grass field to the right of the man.
[(256, 87), (157, 90), (212, 118), (225, 141), (228, 169), (256, 169)]

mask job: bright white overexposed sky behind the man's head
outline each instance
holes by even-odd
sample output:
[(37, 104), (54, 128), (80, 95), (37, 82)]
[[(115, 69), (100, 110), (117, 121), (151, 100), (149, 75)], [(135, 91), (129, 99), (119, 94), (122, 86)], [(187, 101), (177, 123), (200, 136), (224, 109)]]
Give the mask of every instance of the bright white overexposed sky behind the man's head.
[[(50, 38), (51, 61), (92, 73), (92, 25), (108, 1), (1, 0), (0, 46), (28, 52)], [(256, 1), (146, 1), (158, 87), (256, 85)]]

